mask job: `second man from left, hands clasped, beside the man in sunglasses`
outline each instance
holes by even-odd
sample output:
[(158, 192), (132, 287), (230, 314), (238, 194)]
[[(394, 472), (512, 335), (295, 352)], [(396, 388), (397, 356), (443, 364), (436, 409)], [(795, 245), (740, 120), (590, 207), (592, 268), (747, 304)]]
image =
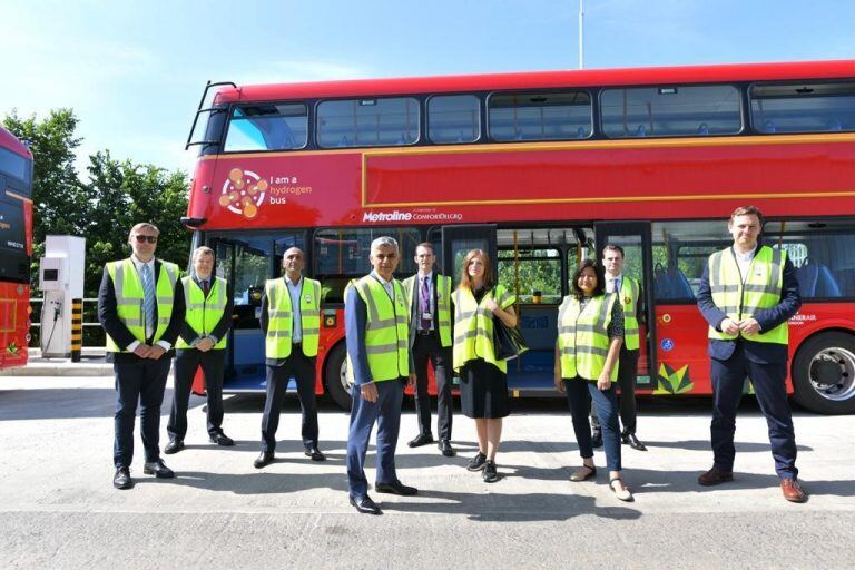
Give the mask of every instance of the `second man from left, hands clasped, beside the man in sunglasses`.
[(204, 245), (197, 247), (191, 263), (193, 275), (181, 278), (187, 311), (175, 345), (175, 389), (173, 411), (166, 425), (169, 434), (169, 443), (164, 448), (166, 454), (184, 449), (190, 389), (199, 366), (205, 375), (208, 440), (217, 445), (235, 444), (223, 432), (223, 373), (234, 299), (226, 279), (214, 275), (214, 249)]

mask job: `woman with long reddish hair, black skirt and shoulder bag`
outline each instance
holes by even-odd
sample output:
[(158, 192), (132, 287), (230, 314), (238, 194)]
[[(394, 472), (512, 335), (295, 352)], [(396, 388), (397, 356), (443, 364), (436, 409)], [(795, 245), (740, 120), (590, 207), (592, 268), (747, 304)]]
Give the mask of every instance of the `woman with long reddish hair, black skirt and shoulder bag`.
[(517, 296), (494, 283), (490, 258), (472, 249), (463, 261), (454, 302), (454, 371), (460, 374), (463, 414), (475, 420), (478, 454), (470, 471), (482, 471), (488, 483), (499, 480), (495, 452), (502, 436), (502, 419), (511, 413), (508, 399), (508, 365), (493, 351), (493, 320), (517, 326)]

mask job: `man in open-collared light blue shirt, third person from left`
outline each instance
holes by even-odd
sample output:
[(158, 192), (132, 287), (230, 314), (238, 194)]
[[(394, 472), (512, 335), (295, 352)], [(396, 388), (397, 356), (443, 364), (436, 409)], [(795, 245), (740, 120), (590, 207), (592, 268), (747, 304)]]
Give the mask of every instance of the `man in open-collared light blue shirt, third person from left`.
[(297, 397), (303, 410), (304, 454), (312, 461), (326, 456), (317, 446), (317, 404), (315, 402), (315, 356), (321, 334), (321, 283), (303, 276), (306, 261), (299, 247), (282, 255), (285, 275), (268, 279), (262, 296), (262, 331), (267, 364), (267, 397), (262, 417), (262, 453), (254, 465), (273, 463), (279, 411), (288, 382), (297, 383)]

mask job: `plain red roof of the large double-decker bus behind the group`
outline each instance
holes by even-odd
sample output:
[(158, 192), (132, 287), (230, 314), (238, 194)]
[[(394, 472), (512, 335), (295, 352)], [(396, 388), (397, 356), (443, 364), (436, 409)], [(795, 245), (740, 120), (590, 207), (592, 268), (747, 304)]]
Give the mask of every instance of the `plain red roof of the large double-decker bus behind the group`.
[(220, 88), (215, 97), (215, 102), (227, 104), (291, 98), (386, 96), (500, 89), (544, 89), (554, 88), (556, 86), (598, 87), (853, 77), (855, 77), (855, 60), (639, 67), (250, 85), (237, 88)]

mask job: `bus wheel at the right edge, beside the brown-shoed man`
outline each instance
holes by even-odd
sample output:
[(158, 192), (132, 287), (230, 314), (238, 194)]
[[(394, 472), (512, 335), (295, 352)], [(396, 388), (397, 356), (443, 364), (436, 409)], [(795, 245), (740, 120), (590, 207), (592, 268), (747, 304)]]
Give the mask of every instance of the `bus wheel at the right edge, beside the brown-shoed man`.
[(796, 402), (820, 414), (855, 413), (855, 335), (823, 333), (793, 360)]

